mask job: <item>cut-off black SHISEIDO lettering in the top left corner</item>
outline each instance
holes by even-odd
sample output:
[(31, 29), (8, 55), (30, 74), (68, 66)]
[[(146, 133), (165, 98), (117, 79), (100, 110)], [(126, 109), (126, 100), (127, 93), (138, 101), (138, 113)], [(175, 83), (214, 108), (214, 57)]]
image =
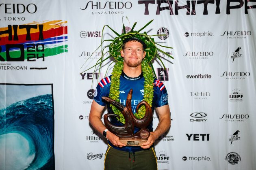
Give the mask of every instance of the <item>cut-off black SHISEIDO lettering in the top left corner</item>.
[[(0, 11), (4, 11), (5, 14), (22, 14), (28, 12), (33, 14), (37, 12), (37, 6), (35, 4), (0, 4)], [(16, 17), (3, 17), (5, 21), (7, 18)], [(10, 20), (9, 20), (10, 21)]]

